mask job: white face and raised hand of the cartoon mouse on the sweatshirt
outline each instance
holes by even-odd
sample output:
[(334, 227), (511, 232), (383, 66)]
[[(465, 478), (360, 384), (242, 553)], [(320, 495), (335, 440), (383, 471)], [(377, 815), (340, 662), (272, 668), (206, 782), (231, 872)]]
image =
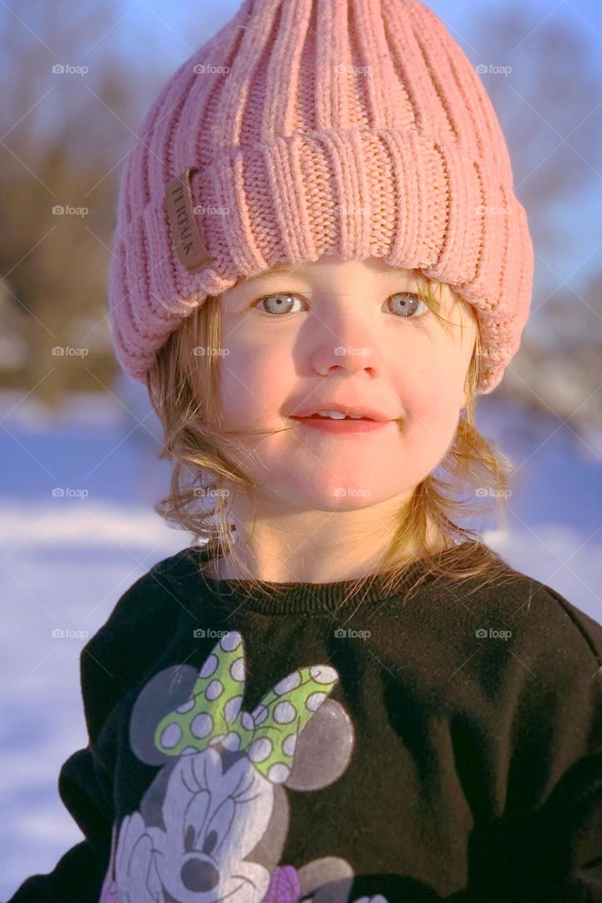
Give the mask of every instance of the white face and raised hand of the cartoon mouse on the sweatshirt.
[(124, 820), (118, 888), (136, 888), (132, 903), (259, 903), (270, 875), (245, 857), (266, 832), (273, 796), (244, 755), (230, 767), (213, 747), (183, 756), (167, 785), (165, 831), (147, 827), (138, 813)]

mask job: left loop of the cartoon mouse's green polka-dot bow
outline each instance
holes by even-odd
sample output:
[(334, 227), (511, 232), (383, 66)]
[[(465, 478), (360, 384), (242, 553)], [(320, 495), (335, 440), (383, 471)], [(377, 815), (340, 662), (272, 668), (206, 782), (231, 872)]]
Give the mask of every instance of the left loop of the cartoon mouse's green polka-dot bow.
[(205, 659), (188, 697), (156, 725), (156, 749), (165, 756), (201, 752), (217, 743), (238, 749), (241, 729), (231, 731), (240, 724), (244, 685), (242, 637), (229, 630)]

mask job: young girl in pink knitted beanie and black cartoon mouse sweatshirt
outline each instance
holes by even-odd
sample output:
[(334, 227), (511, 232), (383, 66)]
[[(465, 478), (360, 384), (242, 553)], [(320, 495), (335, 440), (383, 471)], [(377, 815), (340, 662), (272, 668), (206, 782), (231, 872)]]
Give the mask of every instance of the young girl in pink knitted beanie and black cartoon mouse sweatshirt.
[(84, 833), (11, 903), (602, 901), (602, 627), (467, 526), (532, 249), (415, 0), (246, 0), (146, 118), (110, 309), (193, 545), (81, 654)]

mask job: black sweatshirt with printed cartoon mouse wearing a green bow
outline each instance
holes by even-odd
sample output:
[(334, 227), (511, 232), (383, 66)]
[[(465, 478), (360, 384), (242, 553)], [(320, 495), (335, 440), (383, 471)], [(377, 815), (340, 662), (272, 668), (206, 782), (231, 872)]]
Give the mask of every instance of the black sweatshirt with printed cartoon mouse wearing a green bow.
[(596, 621), (510, 566), (275, 600), (206, 560), (156, 564), (82, 649), (85, 840), (8, 903), (602, 903)]

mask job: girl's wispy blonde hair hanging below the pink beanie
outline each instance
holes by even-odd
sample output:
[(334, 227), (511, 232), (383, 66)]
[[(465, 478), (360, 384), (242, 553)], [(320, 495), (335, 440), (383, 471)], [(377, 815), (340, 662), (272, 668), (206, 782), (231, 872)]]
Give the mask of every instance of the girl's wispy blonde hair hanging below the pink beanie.
[[(417, 278), (415, 291), (428, 304), (437, 321), (444, 329), (447, 325), (454, 326), (440, 312), (443, 285), (417, 271), (414, 275)], [(457, 295), (456, 299), (460, 303), (461, 329), (464, 329), (465, 303)], [(170, 523), (191, 531), (194, 545), (205, 544), (210, 558), (223, 554), (237, 563), (240, 572), (247, 576), (240, 578), (244, 584), (229, 581), (233, 589), (274, 593), (273, 585), (268, 588), (265, 582), (253, 577), (240, 559), (224, 499), (230, 492), (226, 489), (227, 482), (251, 492), (255, 487), (253, 480), (236, 463), (236, 452), (249, 453), (240, 437), (265, 436), (279, 430), (244, 433), (221, 430), (220, 357), (220, 298), (210, 296), (170, 335), (158, 351), (146, 379), (151, 404), (164, 428), (165, 447), (160, 457), (174, 461), (169, 494), (155, 505), (155, 511)], [(378, 574), (389, 595), (412, 563), (418, 560), (427, 563), (425, 559), (428, 559), (428, 566), (407, 597), (418, 590), (429, 573), (453, 582), (483, 577), (488, 583), (499, 581), (503, 575), (510, 575), (512, 579), (508, 564), (479, 542), (475, 530), (457, 523), (467, 516), (474, 517), (484, 511), (491, 513), (492, 508), (502, 517), (503, 505), (509, 495), (508, 476), (512, 464), (475, 427), (475, 392), (481, 358), (476, 321), (475, 348), (466, 373), (465, 413), (460, 414), (454, 439), (437, 465), (441, 475), (436, 477), (430, 473), (419, 482), (409, 505), (400, 512), (376, 571), (359, 577), (353, 592), (360, 590), (372, 575)], [(456, 498), (460, 493), (466, 498)], [(209, 508), (202, 504), (207, 500), (212, 502)], [(251, 536), (256, 526), (257, 520), (253, 517)], [(442, 546), (433, 548), (429, 539), (431, 528), (439, 539), (443, 539)], [(437, 554), (441, 549), (442, 554)]]

